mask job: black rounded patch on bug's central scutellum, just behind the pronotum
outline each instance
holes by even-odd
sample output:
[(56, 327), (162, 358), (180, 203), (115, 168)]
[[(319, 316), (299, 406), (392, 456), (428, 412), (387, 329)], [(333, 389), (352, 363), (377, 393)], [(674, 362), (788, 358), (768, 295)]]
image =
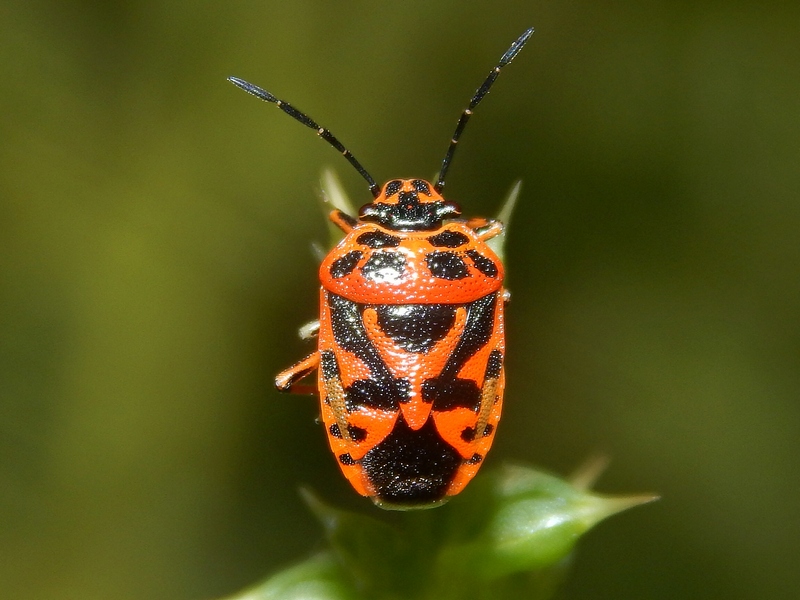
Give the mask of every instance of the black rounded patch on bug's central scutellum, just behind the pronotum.
[(456, 320), (454, 304), (384, 304), (378, 325), (406, 352), (424, 353), (444, 339)]

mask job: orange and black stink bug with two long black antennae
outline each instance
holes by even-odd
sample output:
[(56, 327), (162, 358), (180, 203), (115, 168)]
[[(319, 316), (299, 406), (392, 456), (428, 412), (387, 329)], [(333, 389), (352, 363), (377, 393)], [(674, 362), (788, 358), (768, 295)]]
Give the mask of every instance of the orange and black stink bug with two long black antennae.
[(319, 270), (318, 348), (278, 374), (282, 391), (318, 371), (322, 420), (336, 460), (359, 494), (384, 508), (424, 508), (458, 494), (492, 445), (503, 404), (503, 265), (487, 240), (497, 220), (460, 219), (441, 194), (472, 111), (519, 53), (503, 54), (462, 113), (435, 185), (393, 179), (378, 187), (327, 129), (269, 92), (230, 81), (339, 150), (374, 200), (331, 220), (344, 239)]

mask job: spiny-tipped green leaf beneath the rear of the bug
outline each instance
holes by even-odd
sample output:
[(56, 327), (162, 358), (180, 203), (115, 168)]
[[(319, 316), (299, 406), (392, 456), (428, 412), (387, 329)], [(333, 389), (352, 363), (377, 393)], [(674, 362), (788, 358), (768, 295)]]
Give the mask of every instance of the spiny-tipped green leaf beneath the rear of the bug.
[(427, 511), (354, 513), (302, 490), (329, 552), (229, 600), (544, 600), (564, 578), (584, 533), (655, 499), (589, 491), (602, 465), (589, 463), (572, 481), (504, 466), (479, 474), (446, 506)]

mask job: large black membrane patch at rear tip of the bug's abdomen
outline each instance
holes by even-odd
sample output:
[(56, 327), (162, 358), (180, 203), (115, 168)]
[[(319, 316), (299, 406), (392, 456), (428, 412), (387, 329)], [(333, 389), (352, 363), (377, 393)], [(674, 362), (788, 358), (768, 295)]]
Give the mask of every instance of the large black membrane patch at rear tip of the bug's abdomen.
[(413, 431), (401, 414), (392, 432), (361, 459), (361, 466), (380, 500), (414, 505), (440, 500), (461, 462), (432, 419)]

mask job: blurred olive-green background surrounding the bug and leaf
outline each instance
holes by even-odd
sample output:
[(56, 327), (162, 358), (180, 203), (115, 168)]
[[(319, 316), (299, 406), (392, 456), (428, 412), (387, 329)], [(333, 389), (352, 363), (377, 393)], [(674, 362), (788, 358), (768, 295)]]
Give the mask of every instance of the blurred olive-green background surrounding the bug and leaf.
[(314, 400), (315, 189), (433, 177), (526, 27), (448, 196), (517, 178), (509, 384), (489, 462), (654, 491), (581, 544), (563, 598), (800, 589), (800, 5), (0, 5), (0, 596), (200, 599), (318, 547), (297, 496), (372, 511)]

